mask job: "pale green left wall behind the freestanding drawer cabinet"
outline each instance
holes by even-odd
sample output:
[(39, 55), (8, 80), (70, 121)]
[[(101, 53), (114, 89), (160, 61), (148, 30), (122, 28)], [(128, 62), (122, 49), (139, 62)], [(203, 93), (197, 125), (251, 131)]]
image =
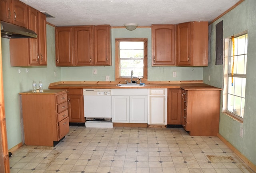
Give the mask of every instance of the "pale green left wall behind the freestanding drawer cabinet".
[[(22, 116), (20, 115), (20, 96), (18, 93), (31, 90), (33, 80), (36, 80), (37, 83), (41, 80), (44, 89), (48, 89), (50, 83), (61, 80), (60, 68), (55, 66), (54, 27), (49, 25), (47, 25), (46, 41), (48, 65), (20, 68), (11, 67), (9, 39), (1, 38), (4, 104), (9, 149), (24, 141), (22, 135)], [(18, 72), (19, 69), (20, 73)], [(26, 69), (28, 69), (28, 72), (26, 72)], [(57, 74), (56, 77), (54, 77), (54, 72)]]

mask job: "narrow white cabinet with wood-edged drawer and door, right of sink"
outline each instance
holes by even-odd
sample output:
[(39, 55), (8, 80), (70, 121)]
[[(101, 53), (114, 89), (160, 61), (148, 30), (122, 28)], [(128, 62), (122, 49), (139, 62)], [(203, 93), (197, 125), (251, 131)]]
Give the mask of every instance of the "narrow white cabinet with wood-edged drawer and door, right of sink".
[(166, 125), (167, 119), (167, 89), (149, 89), (149, 117), (150, 125)]

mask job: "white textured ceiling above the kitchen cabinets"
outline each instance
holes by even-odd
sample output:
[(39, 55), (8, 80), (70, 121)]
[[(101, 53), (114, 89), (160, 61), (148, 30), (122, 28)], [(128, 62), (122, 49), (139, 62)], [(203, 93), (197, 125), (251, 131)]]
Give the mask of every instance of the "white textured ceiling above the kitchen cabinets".
[(123, 26), (124, 23), (178, 24), (188, 21), (211, 22), (239, 0), (21, 0), (55, 18), (55, 26)]

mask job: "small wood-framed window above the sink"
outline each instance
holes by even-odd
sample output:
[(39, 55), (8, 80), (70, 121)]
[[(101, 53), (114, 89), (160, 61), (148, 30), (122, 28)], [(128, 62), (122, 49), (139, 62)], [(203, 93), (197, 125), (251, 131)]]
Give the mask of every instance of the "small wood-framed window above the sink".
[(147, 47), (147, 38), (116, 38), (116, 80), (147, 80)]

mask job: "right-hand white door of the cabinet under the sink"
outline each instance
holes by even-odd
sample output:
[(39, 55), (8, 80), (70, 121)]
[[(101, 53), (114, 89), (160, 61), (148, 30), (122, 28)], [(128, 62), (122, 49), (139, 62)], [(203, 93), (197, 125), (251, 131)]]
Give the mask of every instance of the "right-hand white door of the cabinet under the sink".
[(147, 109), (147, 96), (130, 96), (130, 123), (148, 123)]

